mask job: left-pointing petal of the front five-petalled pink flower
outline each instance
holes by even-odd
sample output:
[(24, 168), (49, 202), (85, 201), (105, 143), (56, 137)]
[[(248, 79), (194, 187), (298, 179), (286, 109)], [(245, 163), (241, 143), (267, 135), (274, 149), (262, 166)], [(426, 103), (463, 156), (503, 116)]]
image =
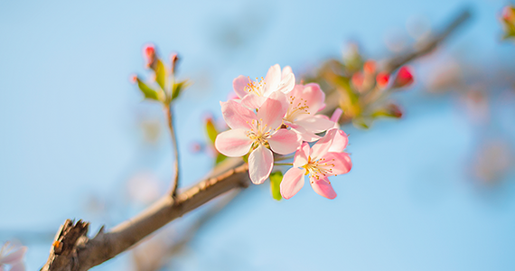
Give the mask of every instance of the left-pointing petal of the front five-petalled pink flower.
[(229, 157), (239, 157), (248, 154), (254, 141), (248, 138), (246, 129), (233, 129), (217, 135), (215, 147)]

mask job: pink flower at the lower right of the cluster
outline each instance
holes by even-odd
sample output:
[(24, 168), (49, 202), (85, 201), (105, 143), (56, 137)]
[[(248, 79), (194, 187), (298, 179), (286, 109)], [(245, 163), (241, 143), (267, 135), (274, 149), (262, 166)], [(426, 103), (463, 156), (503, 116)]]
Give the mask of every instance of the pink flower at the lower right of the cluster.
[(328, 199), (336, 197), (328, 177), (349, 173), (352, 167), (349, 154), (342, 153), (347, 142), (334, 141), (338, 135), (344, 133), (340, 134), (338, 129), (331, 129), (313, 147), (304, 142), (296, 151), (294, 167), (285, 173), (281, 182), (283, 198), (290, 199), (299, 192), (304, 186), (304, 175), (308, 174), (314, 192)]

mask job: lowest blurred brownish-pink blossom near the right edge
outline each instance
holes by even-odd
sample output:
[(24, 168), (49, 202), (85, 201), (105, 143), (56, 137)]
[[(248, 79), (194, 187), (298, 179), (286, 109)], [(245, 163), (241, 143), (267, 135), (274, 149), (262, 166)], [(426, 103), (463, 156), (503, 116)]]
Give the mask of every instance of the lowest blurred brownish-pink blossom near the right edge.
[(490, 141), (474, 155), (473, 173), (482, 182), (499, 182), (512, 164), (510, 144), (501, 140)]

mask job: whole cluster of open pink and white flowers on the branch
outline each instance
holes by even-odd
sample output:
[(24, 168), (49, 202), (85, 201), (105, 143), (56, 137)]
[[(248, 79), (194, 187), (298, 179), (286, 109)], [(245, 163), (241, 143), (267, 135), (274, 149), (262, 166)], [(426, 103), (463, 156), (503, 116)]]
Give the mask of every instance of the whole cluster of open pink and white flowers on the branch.
[(303, 174), (309, 174), (315, 192), (336, 197), (327, 177), (348, 173), (351, 159), (343, 152), (347, 135), (337, 125), (342, 111), (331, 119), (317, 115), (325, 107), (319, 85), (295, 85), (291, 68), (281, 70), (276, 64), (264, 79), (239, 76), (233, 89), (237, 97), (220, 102), (230, 129), (216, 137), (217, 150), (229, 157), (248, 154), (248, 173), (256, 184), (265, 182), (272, 172), (274, 154), (295, 153), (293, 168), (280, 184), (281, 195), (293, 197), (304, 185)]

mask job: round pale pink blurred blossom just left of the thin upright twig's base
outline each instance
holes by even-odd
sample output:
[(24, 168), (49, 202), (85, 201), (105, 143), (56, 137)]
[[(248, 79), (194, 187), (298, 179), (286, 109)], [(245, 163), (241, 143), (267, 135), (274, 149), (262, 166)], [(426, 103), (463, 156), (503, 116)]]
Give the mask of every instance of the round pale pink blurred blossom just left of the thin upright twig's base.
[(154, 173), (136, 173), (127, 182), (127, 192), (131, 200), (149, 204), (161, 196), (161, 182)]

